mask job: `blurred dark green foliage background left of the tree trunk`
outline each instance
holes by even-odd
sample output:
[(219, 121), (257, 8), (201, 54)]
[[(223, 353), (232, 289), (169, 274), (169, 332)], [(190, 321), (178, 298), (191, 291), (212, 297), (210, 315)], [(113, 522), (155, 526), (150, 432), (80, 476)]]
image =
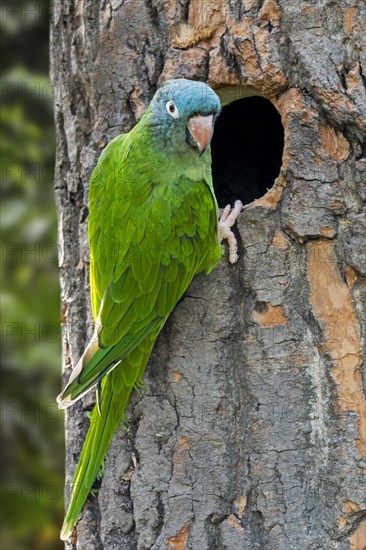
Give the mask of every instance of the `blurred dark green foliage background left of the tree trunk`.
[(1, 548), (48, 550), (64, 476), (49, 3), (2, 2), (0, 25)]

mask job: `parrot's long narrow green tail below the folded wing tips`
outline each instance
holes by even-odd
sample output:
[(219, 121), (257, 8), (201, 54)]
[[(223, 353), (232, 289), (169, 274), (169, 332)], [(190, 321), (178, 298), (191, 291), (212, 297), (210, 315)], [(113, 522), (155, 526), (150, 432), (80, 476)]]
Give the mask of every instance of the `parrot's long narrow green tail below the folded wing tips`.
[(80, 459), (72, 479), (71, 502), (61, 540), (70, 537), (98, 476), (115, 431), (124, 417), (131, 391), (141, 383), (156, 334), (149, 335), (102, 382), (101, 404), (95, 406)]

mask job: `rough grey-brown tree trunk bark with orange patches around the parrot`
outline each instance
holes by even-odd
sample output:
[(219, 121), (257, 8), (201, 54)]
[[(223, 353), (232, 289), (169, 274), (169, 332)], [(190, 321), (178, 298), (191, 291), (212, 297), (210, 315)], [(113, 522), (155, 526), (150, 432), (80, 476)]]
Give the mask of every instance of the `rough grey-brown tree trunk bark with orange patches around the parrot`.
[[(365, 11), (55, 0), (65, 378), (92, 331), (88, 179), (106, 143), (170, 77), (249, 86), (285, 128), (274, 187), (240, 217), (239, 263), (177, 306), (68, 548), (365, 547)], [(68, 484), (92, 399), (67, 415)]]

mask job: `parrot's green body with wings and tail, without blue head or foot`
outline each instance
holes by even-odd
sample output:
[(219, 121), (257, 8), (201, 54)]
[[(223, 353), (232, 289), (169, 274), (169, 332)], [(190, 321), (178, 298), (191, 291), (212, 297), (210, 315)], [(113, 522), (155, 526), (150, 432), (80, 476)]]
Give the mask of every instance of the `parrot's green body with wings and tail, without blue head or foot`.
[(210, 177), (202, 177), (202, 166), (193, 179), (175, 167), (162, 172), (160, 155), (149, 150), (143, 128), (134, 129), (106, 147), (91, 178), (96, 333), (59, 402), (71, 404), (101, 382), (101, 404), (94, 408), (73, 478), (63, 539), (71, 534), (130, 393), (141, 383), (159, 331), (194, 275), (220, 260)]

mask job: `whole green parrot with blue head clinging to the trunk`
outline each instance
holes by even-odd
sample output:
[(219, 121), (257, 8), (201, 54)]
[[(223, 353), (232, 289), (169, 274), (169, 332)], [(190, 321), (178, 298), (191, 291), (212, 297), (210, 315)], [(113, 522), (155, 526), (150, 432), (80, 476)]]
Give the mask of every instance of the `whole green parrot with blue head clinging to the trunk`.
[(242, 209), (218, 222), (210, 141), (220, 101), (202, 82), (171, 80), (141, 120), (104, 149), (90, 180), (90, 288), (95, 331), (59, 407), (92, 388), (97, 404), (72, 480), (66, 540), (104, 463), (131, 391), (174, 306), (198, 273), (220, 261)]

